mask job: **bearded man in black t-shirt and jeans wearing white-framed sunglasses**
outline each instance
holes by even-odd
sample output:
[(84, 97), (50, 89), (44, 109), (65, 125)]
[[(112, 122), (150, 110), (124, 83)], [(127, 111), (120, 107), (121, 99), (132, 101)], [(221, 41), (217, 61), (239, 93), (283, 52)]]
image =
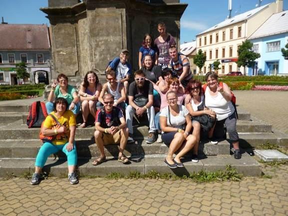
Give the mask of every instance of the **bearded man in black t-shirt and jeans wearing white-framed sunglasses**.
[(129, 86), (128, 99), (129, 105), (126, 107), (126, 123), (129, 129), (128, 141), (133, 140), (133, 115), (138, 117), (147, 113), (149, 121), (149, 136), (146, 143), (151, 144), (156, 141), (156, 127), (154, 124), (155, 110), (153, 107), (153, 84), (145, 80), (142, 70), (134, 72), (135, 81)]

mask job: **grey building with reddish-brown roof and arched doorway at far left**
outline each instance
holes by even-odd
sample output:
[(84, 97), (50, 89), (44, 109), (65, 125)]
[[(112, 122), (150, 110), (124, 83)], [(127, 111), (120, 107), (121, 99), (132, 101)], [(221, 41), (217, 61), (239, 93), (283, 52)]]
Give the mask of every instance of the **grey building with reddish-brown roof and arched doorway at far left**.
[(47, 25), (0, 24), (0, 85), (22, 84), (15, 64), (25, 62), (30, 74), (25, 83), (48, 84), (51, 79), (51, 45)]

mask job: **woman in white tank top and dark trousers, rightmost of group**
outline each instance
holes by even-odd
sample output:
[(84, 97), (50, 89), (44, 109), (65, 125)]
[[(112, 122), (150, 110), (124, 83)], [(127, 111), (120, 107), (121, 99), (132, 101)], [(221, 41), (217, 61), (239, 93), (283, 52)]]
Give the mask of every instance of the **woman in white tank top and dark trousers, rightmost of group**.
[(236, 131), (237, 118), (235, 108), (231, 102), (232, 94), (230, 88), (226, 83), (220, 84), (218, 82), (218, 75), (215, 72), (208, 72), (206, 74), (206, 81), (205, 106), (216, 113), (216, 127), (222, 127), (222, 124), (226, 125), (229, 139), (232, 141), (235, 149), (234, 157), (235, 159), (240, 159), (239, 137)]

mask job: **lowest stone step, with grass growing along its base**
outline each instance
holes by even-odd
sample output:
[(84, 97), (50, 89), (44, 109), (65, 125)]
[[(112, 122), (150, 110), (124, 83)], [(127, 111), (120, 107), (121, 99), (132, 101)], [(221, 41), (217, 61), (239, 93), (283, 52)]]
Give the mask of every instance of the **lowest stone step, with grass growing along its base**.
[[(235, 160), (233, 156), (209, 156), (200, 158), (199, 163), (192, 163), (189, 159), (182, 159), (184, 168), (170, 169), (164, 164), (165, 155), (152, 155), (142, 158), (131, 158), (131, 164), (124, 165), (116, 160), (116, 158), (107, 158), (108, 161), (98, 166), (93, 166), (91, 159), (79, 159), (78, 167), (80, 175), (104, 176), (112, 172), (129, 174), (132, 171), (138, 171), (147, 174), (154, 170), (159, 173), (172, 173), (178, 176), (198, 173), (201, 170), (206, 172), (214, 172), (217, 170), (225, 170), (227, 165), (231, 165), (244, 176), (260, 176), (261, 169), (258, 162), (248, 154), (243, 154), (242, 159)], [(34, 158), (15, 158), (0, 159), (0, 177), (21, 176), (25, 173), (34, 172)], [(51, 176), (63, 177), (67, 176), (67, 162), (65, 160), (48, 159), (43, 171), (49, 172)]]

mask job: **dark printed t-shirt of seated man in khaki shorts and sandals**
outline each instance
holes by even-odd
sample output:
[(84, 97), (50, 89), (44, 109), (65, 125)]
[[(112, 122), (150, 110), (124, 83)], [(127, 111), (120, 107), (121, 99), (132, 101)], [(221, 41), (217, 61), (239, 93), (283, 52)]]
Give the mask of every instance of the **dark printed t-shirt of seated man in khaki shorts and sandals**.
[[(117, 115), (118, 121), (113, 121), (113, 110), (114, 113)], [(102, 115), (102, 111), (101, 109), (99, 109), (96, 112), (96, 122), (99, 122), (100, 125), (102, 126), (102, 121), (105, 120), (106, 122), (106, 126), (104, 126), (104, 128), (110, 128), (111, 126), (117, 127), (119, 126), (118, 122), (120, 122), (120, 118), (124, 118), (123, 112), (121, 109), (119, 109), (118, 107), (113, 107), (113, 110), (111, 112), (107, 112), (105, 111), (105, 116)]]

